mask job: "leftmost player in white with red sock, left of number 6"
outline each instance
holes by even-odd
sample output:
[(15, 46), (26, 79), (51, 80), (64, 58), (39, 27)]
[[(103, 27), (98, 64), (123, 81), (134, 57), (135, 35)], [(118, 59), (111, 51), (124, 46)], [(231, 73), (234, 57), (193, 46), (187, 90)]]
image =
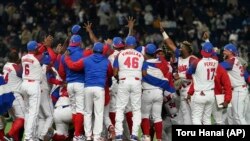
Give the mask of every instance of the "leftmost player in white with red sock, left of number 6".
[(14, 114), (14, 121), (7, 138), (13, 138), (19, 141), (19, 131), (24, 127), (24, 114), (25, 105), (23, 97), (21, 96), (21, 84), (22, 84), (22, 68), (18, 64), (19, 57), (17, 52), (10, 52), (8, 54), (8, 62), (3, 67), (3, 74), (7, 83), (8, 89), (12, 90), (15, 96), (13, 102), (12, 113)]

